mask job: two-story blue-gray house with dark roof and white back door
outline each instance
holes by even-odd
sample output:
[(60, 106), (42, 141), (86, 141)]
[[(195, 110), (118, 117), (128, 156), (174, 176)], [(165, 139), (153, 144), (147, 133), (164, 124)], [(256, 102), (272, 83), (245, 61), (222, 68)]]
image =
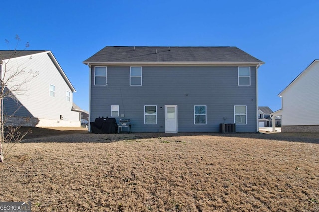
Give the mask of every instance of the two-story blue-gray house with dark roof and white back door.
[(107, 46), (90, 70), (89, 118), (131, 120), (133, 132), (258, 131), (257, 70), (237, 47)]

